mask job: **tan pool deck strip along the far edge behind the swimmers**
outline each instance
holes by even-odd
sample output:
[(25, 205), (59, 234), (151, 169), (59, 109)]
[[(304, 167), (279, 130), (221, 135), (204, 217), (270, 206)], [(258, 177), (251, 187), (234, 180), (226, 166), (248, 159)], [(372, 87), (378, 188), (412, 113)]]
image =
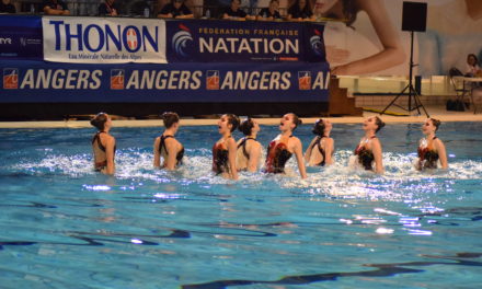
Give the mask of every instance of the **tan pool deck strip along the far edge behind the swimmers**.
[[(383, 107), (369, 106), (367, 108), (381, 111)], [(445, 106), (432, 105), (426, 106), (426, 109), (431, 117), (437, 118), (441, 122), (482, 122), (482, 114), (473, 114), (473, 111), (466, 112), (447, 112)], [(403, 113), (402, 111), (389, 109), (391, 112)], [(405, 112), (406, 113), (406, 112)], [(365, 117), (371, 115), (379, 115), (378, 113), (364, 112), (364, 116), (342, 116), (342, 117), (326, 117), (334, 124), (356, 124), (360, 123)], [(303, 117), (303, 124), (313, 124), (319, 117)], [(426, 116), (423, 114), (417, 115), (414, 111), (410, 116), (381, 116), (386, 123), (421, 123)], [(279, 118), (256, 118), (262, 125), (276, 125), (279, 124)], [(181, 119), (184, 126), (208, 126), (215, 125), (217, 119), (197, 119), (197, 118), (183, 118)], [(162, 126), (161, 119), (114, 119), (114, 126), (116, 127), (154, 127)], [(57, 120), (57, 122), (0, 122), (0, 128), (84, 128), (91, 127), (88, 120)]]

